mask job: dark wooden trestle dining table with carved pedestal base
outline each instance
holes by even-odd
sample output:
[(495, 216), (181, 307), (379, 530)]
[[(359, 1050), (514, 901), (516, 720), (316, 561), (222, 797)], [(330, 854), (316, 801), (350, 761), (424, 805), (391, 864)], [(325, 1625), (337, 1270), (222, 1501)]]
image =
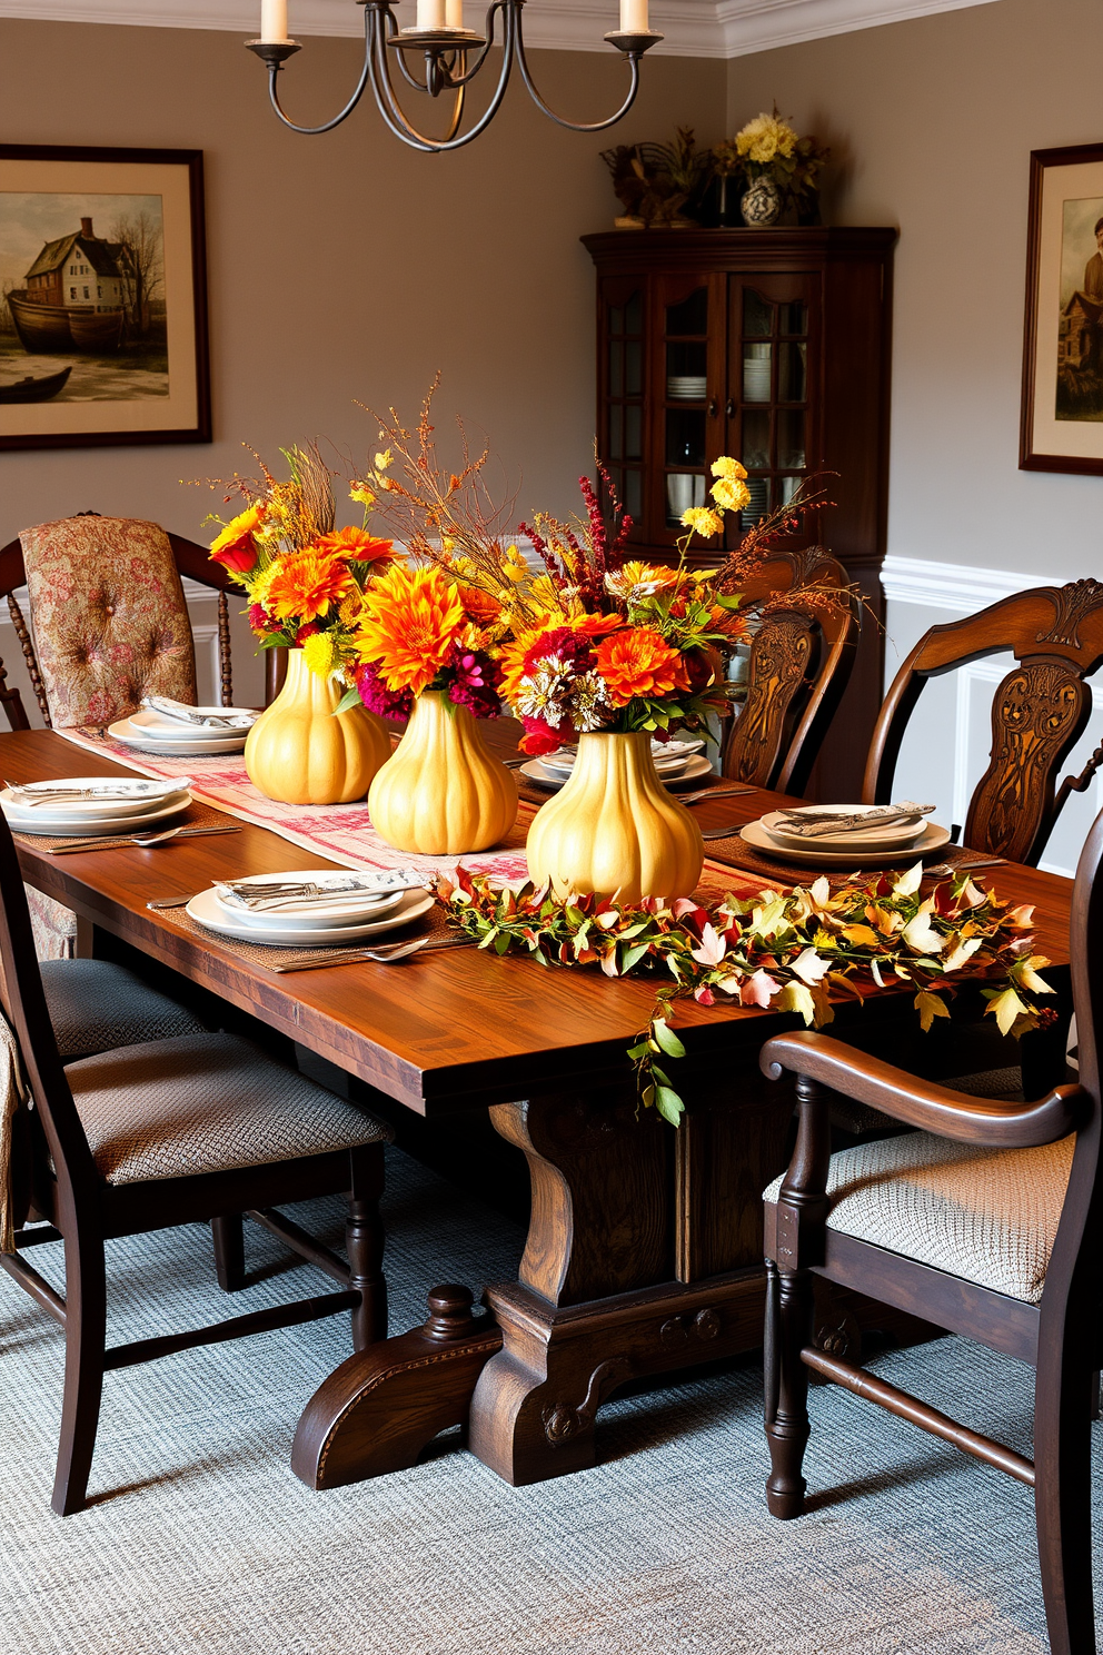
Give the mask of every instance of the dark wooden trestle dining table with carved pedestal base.
[[(509, 748), (516, 732), (503, 720), (491, 738)], [(121, 768), (43, 730), (0, 735), (0, 775), (15, 781)], [(756, 789), (695, 813), (716, 828), (782, 803)], [(708, 849), (738, 867), (736, 841)], [(640, 1109), (625, 1056), (652, 1015), (653, 978), (541, 968), (475, 948), (278, 975), (146, 907), (212, 879), (332, 867), (251, 824), (225, 837), (63, 857), (18, 841), (18, 854), (23, 877), (94, 933), (329, 1059), (369, 1102), (382, 1094), (392, 1114), (400, 1106), (427, 1129), (489, 1111), (494, 1130), (528, 1160), (531, 1218), (518, 1279), (491, 1284), (481, 1314), (463, 1283), (438, 1288), (422, 1327), (349, 1357), (299, 1422), (293, 1463), (308, 1483), (410, 1465), (451, 1423), (466, 1425), (471, 1450), (511, 1483), (569, 1473), (592, 1465), (595, 1417), (612, 1392), (761, 1346), (762, 1190), (787, 1160), (792, 1099), (761, 1076), (757, 1054), (767, 1036), (794, 1026), (792, 1015), (676, 1001), (686, 1115), (671, 1129)], [(1035, 904), (1035, 947), (1065, 995), (1072, 882), (1012, 864), (992, 869), (991, 882)], [(979, 1016), (979, 993), (962, 983), (954, 1010)], [(921, 1038), (939, 1039), (943, 1028), (939, 1019)], [(848, 1000), (832, 1033), (903, 1053), (918, 1038), (911, 995)], [(857, 1298), (825, 1304), (825, 1337), (845, 1346), (863, 1314)], [(878, 1317), (885, 1326), (883, 1311)]]

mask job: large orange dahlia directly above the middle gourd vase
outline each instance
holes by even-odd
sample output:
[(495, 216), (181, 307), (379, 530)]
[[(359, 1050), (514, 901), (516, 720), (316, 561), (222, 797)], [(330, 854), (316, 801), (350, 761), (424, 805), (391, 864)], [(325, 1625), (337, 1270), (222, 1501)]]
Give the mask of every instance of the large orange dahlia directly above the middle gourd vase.
[(463, 624), (460, 591), (440, 569), (394, 563), (367, 589), (356, 647), (389, 690), (420, 695), (446, 662)]

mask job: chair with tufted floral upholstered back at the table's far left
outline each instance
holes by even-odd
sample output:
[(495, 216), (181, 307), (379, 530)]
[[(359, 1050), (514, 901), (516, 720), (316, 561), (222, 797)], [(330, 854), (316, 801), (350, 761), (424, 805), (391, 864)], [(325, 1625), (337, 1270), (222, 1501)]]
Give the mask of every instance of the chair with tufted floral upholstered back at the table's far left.
[[(23, 530), (0, 549), (0, 597), (7, 597), (46, 728), (103, 728), (136, 712), (149, 693), (197, 700), (182, 576), (218, 592), (218, 677), (228, 705), (230, 579), (205, 546), (155, 523), (83, 511)], [(23, 586), (30, 626), (18, 601)], [(12, 730), (30, 730), (2, 660), (0, 703)], [(28, 900), (38, 957), (71, 958), (76, 915), (43, 892), (28, 892)]]

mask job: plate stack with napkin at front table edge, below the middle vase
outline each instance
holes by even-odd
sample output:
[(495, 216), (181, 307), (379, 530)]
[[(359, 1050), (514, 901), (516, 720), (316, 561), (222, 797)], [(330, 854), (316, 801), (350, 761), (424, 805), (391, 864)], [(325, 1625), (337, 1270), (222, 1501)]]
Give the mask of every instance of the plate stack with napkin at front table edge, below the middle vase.
[[(394, 874), (324, 872), (296, 867), (288, 874), (256, 874), (250, 877), (251, 890), (261, 885), (294, 885), (309, 880), (321, 887), (316, 895), (288, 895), (268, 909), (250, 907), (235, 897), (230, 885), (202, 890), (187, 905), (187, 912), (207, 930), (241, 942), (258, 942), (273, 947), (318, 947), (327, 943), (354, 943), (364, 937), (382, 935), (410, 925), (428, 914), (433, 897), (418, 885), (408, 871)], [(349, 889), (349, 887), (354, 889)]]

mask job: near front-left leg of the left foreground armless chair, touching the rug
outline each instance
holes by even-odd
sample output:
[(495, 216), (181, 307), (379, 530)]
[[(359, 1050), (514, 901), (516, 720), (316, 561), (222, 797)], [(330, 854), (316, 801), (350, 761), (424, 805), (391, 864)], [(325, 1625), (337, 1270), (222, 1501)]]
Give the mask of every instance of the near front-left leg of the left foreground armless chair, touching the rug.
[(53, 1509), (68, 1518), (84, 1506), (93, 1468), (107, 1342), (107, 1289), (101, 1236), (64, 1240), (64, 1400), (53, 1483)]

